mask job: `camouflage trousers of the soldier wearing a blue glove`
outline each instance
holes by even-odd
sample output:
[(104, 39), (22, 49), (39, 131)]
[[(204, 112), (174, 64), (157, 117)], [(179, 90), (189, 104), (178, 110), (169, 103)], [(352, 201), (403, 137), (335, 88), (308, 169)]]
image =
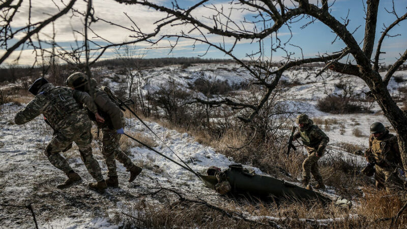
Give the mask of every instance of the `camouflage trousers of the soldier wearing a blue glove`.
[(103, 128), (103, 139), (102, 154), (107, 166), (107, 176), (116, 177), (118, 176), (116, 171), (116, 162), (118, 160), (123, 166), (129, 171), (133, 166), (131, 159), (120, 149), (120, 138), (121, 134), (118, 134), (115, 130), (110, 130), (109, 128)]

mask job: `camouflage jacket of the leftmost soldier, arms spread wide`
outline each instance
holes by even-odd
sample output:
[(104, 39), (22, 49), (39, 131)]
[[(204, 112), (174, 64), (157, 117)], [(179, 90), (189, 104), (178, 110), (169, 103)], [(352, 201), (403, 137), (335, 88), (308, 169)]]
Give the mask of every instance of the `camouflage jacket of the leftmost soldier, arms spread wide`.
[[(38, 95), (24, 109), (17, 112), (14, 122), (22, 125), (43, 114), (54, 129), (59, 130), (66, 127), (68, 117), (77, 116), (77, 119), (83, 117), (85, 111), (80, 105), (82, 103), (86, 104), (92, 112), (97, 112), (97, 106), (89, 94), (47, 83), (40, 88)], [(77, 122), (80, 121), (77, 120)], [(86, 121), (89, 119), (86, 118)]]

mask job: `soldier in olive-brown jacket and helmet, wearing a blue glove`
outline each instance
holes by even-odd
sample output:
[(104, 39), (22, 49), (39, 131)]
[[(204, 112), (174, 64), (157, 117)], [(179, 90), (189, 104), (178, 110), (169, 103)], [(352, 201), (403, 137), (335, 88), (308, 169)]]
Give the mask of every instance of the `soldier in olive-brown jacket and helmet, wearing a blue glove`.
[[(105, 123), (96, 122), (96, 124), (98, 125), (98, 129), (102, 129), (103, 133), (102, 154), (107, 165), (107, 186), (119, 187), (116, 163), (114, 159), (117, 159), (120, 163), (122, 163), (124, 167), (126, 167), (127, 171), (130, 171), (129, 182), (134, 181), (134, 179), (136, 179), (136, 177), (141, 173), (142, 169), (136, 166), (120, 149), (119, 141), (121, 135), (124, 133), (123, 127), (125, 126), (125, 120), (123, 117), (123, 112), (120, 110), (117, 101), (115, 101), (115, 99), (112, 98), (112, 96), (109, 96), (105, 91), (97, 88), (96, 80), (88, 83), (88, 79), (83, 73), (73, 73), (68, 77), (66, 83), (68, 87), (83, 92), (89, 92), (89, 87), (94, 89), (94, 101), (98, 107), (98, 112), (106, 120)], [(93, 119), (93, 117), (91, 117), (91, 119)]]

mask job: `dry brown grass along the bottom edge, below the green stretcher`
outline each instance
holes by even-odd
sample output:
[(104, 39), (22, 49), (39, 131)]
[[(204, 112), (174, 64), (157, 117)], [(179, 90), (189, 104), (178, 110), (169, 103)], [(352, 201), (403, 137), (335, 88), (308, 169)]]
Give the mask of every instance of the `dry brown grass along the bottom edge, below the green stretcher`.
[[(160, 204), (151, 204), (142, 197), (138, 202), (125, 203), (125, 211), (111, 216), (123, 228), (389, 228), (390, 220), (401, 208), (397, 196), (369, 188), (366, 198), (352, 209), (323, 206), (318, 202), (248, 201), (247, 199), (218, 199), (218, 204), (190, 199), (185, 194), (156, 194)], [(142, 196), (147, 196), (142, 194)], [(221, 203), (221, 204), (220, 204)], [(381, 207), (377, 208), (379, 204)], [(245, 216), (245, 217), (242, 217)], [(250, 217), (253, 216), (253, 217)], [(402, 215), (395, 228), (406, 228), (407, 213)], [(318, 221), (317, 221), (318, 220)]]

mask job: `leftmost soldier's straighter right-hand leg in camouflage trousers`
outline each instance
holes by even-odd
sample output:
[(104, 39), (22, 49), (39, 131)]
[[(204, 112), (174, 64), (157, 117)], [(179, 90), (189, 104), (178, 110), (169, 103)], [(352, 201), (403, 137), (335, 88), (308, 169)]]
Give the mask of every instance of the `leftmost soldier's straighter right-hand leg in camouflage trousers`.
[(93, 157), (92, 148), (92, 134), (91, 131), (85, 131), (80, 134), (75, 143), (79, 148), (80, 158), (88, 169), (89, 174), (98, 182), (103, 180), (102, 171), (100, 169), (98, 161)]

